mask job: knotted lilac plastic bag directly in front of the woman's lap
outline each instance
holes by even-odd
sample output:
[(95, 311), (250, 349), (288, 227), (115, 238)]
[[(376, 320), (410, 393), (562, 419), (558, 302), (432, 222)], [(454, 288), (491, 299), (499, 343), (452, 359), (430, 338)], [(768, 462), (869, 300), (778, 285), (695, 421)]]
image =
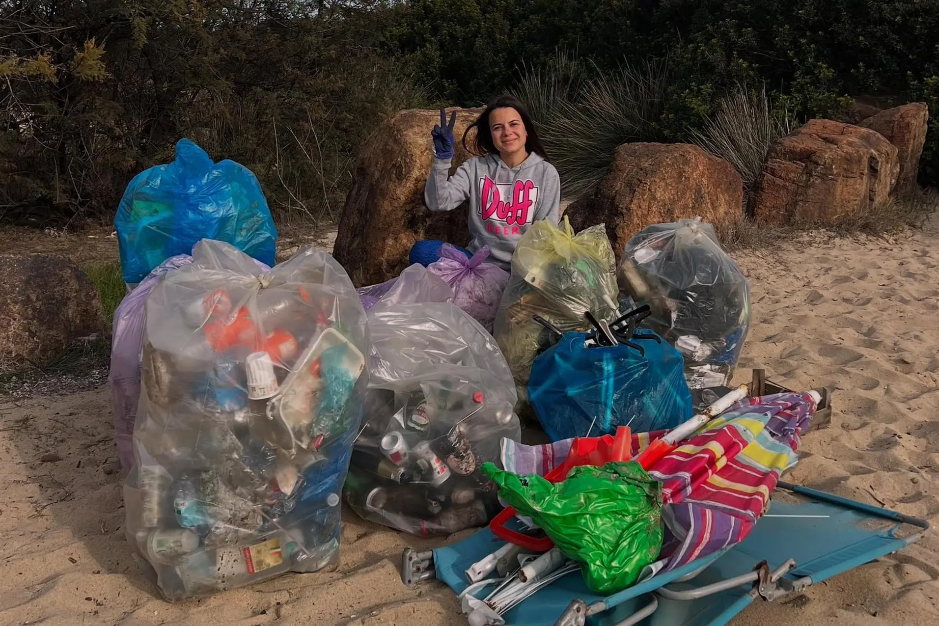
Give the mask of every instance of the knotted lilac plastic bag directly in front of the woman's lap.
[(509, 282), (509, 272), (485, 263), (488, 257), (488, 246), (483, 246), (468, 259), (466, 254), (445, 243), (440, 248), (440, 260), (427, 266), (427, 269), (453, 287), (454, 304), (491, 333), (502, 292)]

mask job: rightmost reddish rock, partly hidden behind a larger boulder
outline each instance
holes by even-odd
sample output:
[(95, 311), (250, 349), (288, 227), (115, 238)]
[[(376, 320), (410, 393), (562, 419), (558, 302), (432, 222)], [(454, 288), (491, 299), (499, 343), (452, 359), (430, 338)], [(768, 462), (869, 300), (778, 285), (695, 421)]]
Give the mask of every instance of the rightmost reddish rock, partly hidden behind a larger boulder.
[(926, 143), (926, 123), (929, 120), (930, 108), (926, 103), (914, 102), (881, 111), (859, 124), (865, 129), (876, 130), (897, 146), (900, 177), (895, 192), (906, 193), (916, 188), (919, 155)]

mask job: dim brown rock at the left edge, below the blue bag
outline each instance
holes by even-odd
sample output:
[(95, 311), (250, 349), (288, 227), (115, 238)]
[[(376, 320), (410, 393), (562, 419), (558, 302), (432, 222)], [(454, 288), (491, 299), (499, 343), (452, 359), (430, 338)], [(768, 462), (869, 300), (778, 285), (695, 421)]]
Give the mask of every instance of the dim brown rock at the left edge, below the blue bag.
[(0, 368), (45, 365), (105, 330), (98, 289), (57, 254), (0, 254)]

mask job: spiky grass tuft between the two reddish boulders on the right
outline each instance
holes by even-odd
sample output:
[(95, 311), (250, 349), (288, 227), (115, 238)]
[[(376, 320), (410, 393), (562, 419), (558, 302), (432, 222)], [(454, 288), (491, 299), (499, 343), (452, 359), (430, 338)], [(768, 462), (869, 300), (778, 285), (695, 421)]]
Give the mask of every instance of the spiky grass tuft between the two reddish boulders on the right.
[(743, 85), (720, 100), (715, 115), (701, 130), (691, 129), (691, 140), (714, 156), (727, 160), (744, 183), (747, 209), (766, 155), (776, 141), (795, 130), (797, 122), (786, 109), (776, 109), (766, 88), (751, 91)]

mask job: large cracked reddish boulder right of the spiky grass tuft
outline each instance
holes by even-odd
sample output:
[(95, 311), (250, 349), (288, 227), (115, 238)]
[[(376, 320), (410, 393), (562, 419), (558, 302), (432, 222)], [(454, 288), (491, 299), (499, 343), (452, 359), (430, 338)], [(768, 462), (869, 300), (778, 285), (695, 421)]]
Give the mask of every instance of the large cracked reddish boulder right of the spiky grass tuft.
[(812, 119), (770, 149), (754, 193), (758, 221), (825, 225), (887, 201), (897, 148), (870, 129)]

